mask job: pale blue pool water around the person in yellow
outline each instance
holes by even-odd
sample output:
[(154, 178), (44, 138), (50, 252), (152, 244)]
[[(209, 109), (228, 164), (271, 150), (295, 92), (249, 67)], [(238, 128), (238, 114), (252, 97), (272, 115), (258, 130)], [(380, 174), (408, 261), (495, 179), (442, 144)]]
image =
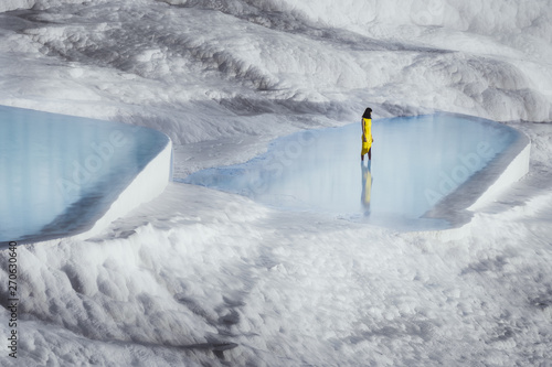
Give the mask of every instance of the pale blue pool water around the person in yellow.
[(200, 171), (184, 182), (285, 209), (405, 229), (445, 228), (446, 220), (424, 214), (518, 137), (503, 125), (450, 114), (374, 120), (368, 169), (360, 161), (359, 121), (277, 139), (262, 156)]

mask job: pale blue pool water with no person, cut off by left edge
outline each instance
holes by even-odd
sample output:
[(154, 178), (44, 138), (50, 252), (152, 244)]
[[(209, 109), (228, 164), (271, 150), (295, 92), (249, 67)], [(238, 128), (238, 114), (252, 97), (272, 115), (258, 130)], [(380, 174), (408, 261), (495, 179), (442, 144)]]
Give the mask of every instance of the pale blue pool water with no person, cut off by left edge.
[(168, 141), (147, 128), (0, 106), (0, 242), (87, 229)]

